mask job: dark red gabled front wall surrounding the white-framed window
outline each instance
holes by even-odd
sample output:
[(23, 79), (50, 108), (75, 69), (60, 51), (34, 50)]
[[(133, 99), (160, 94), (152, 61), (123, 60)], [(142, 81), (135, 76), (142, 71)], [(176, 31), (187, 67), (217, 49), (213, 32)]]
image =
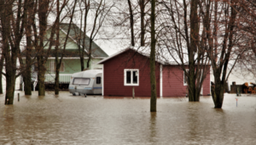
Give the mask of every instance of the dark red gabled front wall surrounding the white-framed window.
[[(104, 96), (132, 96), (132, 86), (124, 85), (124, 69), (139, 69), (139, 86), (134, 86), (135, 96), (150, 96), (149, 58), (134, 50), (103, 62)], [(157, 96), (160, 96), (160, 64), (155, 66)]]

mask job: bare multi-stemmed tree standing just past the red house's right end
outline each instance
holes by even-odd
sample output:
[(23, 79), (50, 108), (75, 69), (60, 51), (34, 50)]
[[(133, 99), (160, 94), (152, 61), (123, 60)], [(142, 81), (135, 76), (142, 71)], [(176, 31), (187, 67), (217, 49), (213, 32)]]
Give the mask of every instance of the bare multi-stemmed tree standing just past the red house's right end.
[(233, 59), (235, 65), (244, 50), (238, 46), (243, 37), (237, 27), (237, 1), (214, 2), (201, 3), (201, 14), (206, 30), (207, 55), (212, 62), (215, 81), (215, 86), (212, 86), (212, 99), (215, 107), (221, 108), (224, 100), (224, 83), (229, 77), (229, 62)]

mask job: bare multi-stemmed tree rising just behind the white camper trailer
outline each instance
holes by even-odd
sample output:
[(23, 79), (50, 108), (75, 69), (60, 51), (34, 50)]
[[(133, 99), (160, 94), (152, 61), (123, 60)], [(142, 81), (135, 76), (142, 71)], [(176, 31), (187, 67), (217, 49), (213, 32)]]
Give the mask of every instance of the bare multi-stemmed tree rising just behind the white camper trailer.
[[(112, 8), (113, 4), (109, 4), (106, 0), (83, 0), (79, 2), (79, 12), (81, 14), (80, 29), (78, 30), (74, 27), (74, 31), (76, 32), (75, 39), (79, 47), (81, 71), (84, 71), (84, 51), (86, 52), (86, 55), (88, 55), (86, 67), (90, 67), (92, 54), (95, 51), (92, 49), (93, 41), (96, 38), (96, 35), (100, 32), (102, 25)], [(83, 31), (81, 31), (82, 27), (84, 29)], [(89, 36), (86, 35), (87, 32), (90, 33)]]

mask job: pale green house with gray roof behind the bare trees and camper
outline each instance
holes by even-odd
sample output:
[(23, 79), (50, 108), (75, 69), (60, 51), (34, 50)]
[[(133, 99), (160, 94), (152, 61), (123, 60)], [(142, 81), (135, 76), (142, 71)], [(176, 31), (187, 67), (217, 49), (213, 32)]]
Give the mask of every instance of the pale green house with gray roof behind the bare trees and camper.
[[(68, 25), (65, 23), (60, 24), (60, 48), (61, 52), (59, 52), (59, 58), (61, 58), (61, 53), (63, 49), (63, 44), (65, 42), (65, 38), (67, 36), (68, 31)], [(71, 75), (73, 73), (81, 72), (80, 67), (80, 58), (79, 58), (79, 43), (77, 40), (79, 40), (79, 34), (82, 31), (79, 29), (78, 26), (75, 24), (71, 25), (71, 29), (69, 32), (69, 36), (67, 38), (67, 46), (64, 53), (63, 60), (61, 62), (60, 67), (60, 84), (69, 84)], [(49, 46), (49, 38), (50, 35), (50, 29), (46, 33), (46, 40), (44, 42), (45, 45), (45, 52), (48, 50)], [(84, 49), (84, 67), (86, 68), (86, 64), (88, 61), (88, 50), (89, 50), (89, 40), (90, 38), (86, 36), (85, 38), (85, 49)], [(81, 46), (82, 47), (82, 46)], [(108, 57), (108, 55), (102, 50), (96, 43), (92, 43), (92, 49), (91, 49), (91, 60), (90, 60), (90, 68), (102, 68), (102, 65), (97, 65), (96, 63), (98, 61), (101, 61), (102, 59)], [(45, 53), (44, 52), (44, 53)], [(35, 49), (32, 50), (32, 57), (36, 56), (38, 52), (35, 51)], [(22, 58), (25, 61), (26, 59), (26, 51), (22, 52)], [(45, 67), (47, 69), (45, 73), (45, 83), (46, 84), (53, 84), (55, 82), (55, 43), (51, 48), (51, 51), (48, 55), (48, 61), (45, 64)], [(32, 66), (32, 80), (37, 80), (37, 63), (35, 63), (34, 66)], [(20, 84), (22, 84), (22, 78), (20, 81)]]

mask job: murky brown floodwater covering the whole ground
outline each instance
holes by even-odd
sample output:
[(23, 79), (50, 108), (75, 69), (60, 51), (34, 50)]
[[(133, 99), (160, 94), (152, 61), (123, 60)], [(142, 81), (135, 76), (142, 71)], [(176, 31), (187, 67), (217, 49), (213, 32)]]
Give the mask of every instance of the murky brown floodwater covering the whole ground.
[(256, 96), (225, 95), (223, 109), (164, 97), (150, 113), (148, 97), (33, 93), (12, 106), (0, 96), (0, 144), (256, 144)]

